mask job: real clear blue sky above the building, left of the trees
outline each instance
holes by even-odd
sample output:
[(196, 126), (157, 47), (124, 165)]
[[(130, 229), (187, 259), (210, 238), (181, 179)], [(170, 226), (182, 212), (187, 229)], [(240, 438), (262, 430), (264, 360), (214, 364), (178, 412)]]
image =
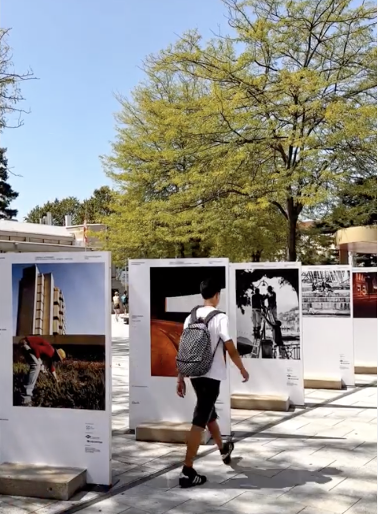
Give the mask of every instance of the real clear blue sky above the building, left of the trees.
[(86, 198), (108, 183), (99, 155), (114, 139), (113, 94), (128, 95), (143, 78), (142, 59), (198, 28), (207, 39), (228, 31), (220, 0), (2, 0), (2, 27), (23, 84), (21, 128), (6, 130), (18, 219), (55, 197)]

